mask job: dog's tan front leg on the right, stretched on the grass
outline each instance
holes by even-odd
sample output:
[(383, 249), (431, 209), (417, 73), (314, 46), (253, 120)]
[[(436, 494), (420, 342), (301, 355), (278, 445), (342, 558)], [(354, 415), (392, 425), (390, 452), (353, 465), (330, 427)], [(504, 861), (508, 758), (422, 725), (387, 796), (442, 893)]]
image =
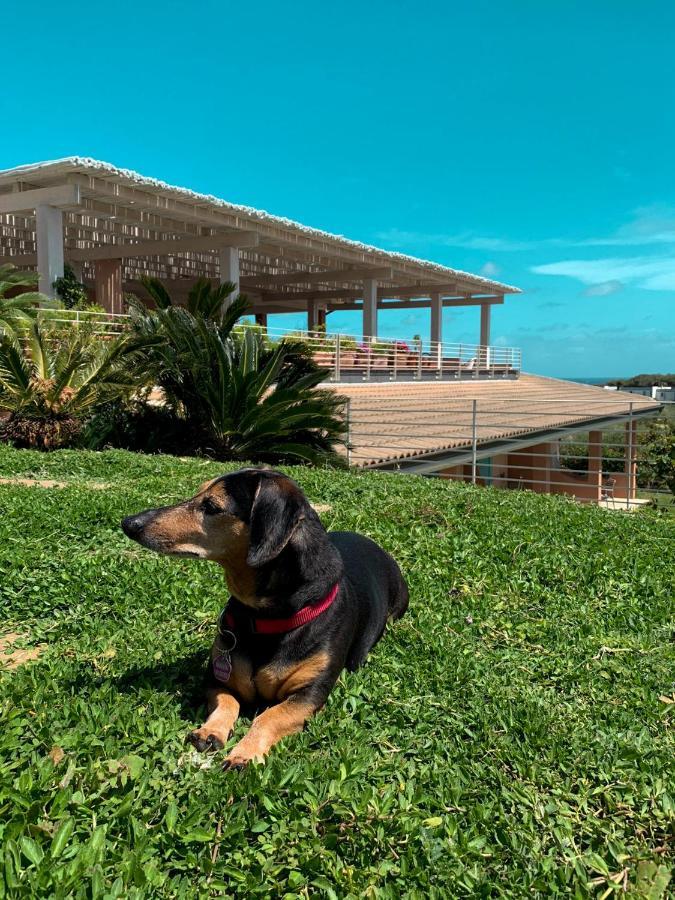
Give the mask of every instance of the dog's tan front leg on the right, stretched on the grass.
[(270, 706), (253, 720), (247, 734), (228, 754), (223, 768), (241, 769), (252, 760), (262, 760), (281, 738), (302, 731), (305, 722), (322, 705), (323, 700), (317, 703), (309, 691), (298, 691)]

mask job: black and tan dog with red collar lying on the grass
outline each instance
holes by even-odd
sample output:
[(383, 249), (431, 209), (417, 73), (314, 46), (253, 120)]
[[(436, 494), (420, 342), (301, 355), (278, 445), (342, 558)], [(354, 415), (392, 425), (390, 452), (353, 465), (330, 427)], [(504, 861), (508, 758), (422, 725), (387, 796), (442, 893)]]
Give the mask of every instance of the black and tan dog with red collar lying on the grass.
[(400, 618), (408, 589), (398, 565), (369, 538), (327, 533), (300, 488), (280, 472), (241, 469), (190, 500), (122, 522), (144, 547), (213, 560), (232, 594), (211, 651), (209, 717), (189, 735), (224, 746), (240, 706), (260, 708), (224, 768), (259, 760), (300, 731), (343, 668), (358, 668)]

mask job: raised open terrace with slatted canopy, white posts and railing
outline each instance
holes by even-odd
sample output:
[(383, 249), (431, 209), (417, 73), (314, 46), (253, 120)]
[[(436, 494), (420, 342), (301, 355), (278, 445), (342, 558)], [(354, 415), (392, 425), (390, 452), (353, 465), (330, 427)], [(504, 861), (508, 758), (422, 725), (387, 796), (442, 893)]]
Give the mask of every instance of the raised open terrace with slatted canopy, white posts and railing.
[[(514, 377), (520, 354), (491, 346), (491, 315), (516, 287), (309, 228), (261, 210), (175, 187), (98, 160), (71, 157), (0, 172), (0, 264), (35, 269), (53, 293), (67, 262), (108, 313), (143, 275), (178, 301), (197, 278), (245, 293), (256, 322), (302, 312), (312, 335), (335, 311), (357, 311), (362, 348), (336, 340), (317, 353), (336, 380)], [(444, 342), (443, 313), (479, 312), (473, 345)], [(414, 348), (378, 339), (387, 310), (429, 309)], [(314, 340), (314, 338), (313, 338)], [(358, 350), (360, 349), (360, 353)]]

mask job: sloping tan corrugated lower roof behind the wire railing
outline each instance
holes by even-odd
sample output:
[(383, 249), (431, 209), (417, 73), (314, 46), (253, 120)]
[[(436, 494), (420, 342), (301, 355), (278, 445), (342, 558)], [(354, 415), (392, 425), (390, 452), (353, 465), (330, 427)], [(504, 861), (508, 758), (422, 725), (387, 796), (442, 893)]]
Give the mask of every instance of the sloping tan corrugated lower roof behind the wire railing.
[[(353, 465), (369, 467), (471, 446), (478, 401), (479, 445), (602, 418), (656, 410), (639, 395), (536, 375), (517, 381), (340, 384), (350, 401)], [(556, 401), (556, 402), (542, 402)]]

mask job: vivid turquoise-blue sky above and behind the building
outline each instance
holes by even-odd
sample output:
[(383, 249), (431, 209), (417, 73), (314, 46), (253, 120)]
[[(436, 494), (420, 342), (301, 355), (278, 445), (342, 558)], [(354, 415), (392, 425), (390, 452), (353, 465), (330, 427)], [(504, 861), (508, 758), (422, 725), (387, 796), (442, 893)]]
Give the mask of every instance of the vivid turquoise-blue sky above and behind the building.
[(0, 167), (93, 156), (518, 285), (493, 340), (529, 371), (675, 370), (675, 4), (27, 10), (3, 10)]

